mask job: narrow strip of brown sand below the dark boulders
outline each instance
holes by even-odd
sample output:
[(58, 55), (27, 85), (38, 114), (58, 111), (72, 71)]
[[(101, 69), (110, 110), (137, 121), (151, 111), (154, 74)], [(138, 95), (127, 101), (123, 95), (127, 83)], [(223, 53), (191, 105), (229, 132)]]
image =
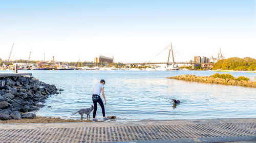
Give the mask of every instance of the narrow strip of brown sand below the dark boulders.
[(60, 118), (51, 117), (36, 117), (35, 119), (19, 119), (19, 120), (0, 120), (0, 124), (11, 124), (11, 123), (65, 123), (65, 122), (93, 122), (92, 119), (87, 120), (65, 120)]

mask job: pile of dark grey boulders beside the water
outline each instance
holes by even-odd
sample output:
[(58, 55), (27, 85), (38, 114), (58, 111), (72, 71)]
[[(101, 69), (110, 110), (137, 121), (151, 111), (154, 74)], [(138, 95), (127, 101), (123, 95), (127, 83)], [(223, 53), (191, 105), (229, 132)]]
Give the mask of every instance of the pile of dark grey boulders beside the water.
[(31, 111), (43, 107), (45, 99), (58, 94), (55, 85), (33, 77), (4, 77), (0, 79), (0, 119), (33, 119)]

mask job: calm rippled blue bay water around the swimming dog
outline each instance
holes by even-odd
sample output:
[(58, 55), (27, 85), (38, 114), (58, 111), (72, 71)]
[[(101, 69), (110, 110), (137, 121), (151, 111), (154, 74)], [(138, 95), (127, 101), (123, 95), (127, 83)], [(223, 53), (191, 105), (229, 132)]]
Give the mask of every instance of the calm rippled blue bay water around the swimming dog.
[[(100, 79), (105, 79), (106, 116), (117, 116), (117, 121), (256, 118), (254, 88), (165, 78), (182, 74), (209, 76), (216, 73), (213, 71), (19, 72), (32, 72), (40, 81), (65, 90), (49, 97), (46, 106), (36, 111), (37, 116), (80, 119), (78, 114), (72, 113), (93, 104), (93, 86)], [(255, 80), (256, 76), (255, 73), (231, 74), (236, 77), (243, 75), (250, 80)], [(180, 100), (181, 104), (175, 106), (172, 99)], [(96, 118), (102, 119), (99, 105)]]

